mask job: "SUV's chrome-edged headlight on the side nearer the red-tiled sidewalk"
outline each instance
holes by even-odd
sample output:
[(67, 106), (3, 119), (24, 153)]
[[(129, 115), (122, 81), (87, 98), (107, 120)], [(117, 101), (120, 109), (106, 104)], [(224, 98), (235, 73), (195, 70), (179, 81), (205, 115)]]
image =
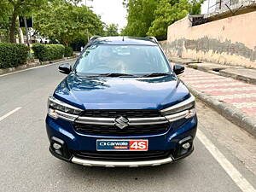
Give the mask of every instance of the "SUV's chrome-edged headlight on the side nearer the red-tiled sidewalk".
[(190, 96), (189, 99), (179, 102), (170, 108), (165, 108), (160, 111), (166, 119), (174, 121), (177, 119), (186, 118), (189, 119), (195, 116), (195, 96)]

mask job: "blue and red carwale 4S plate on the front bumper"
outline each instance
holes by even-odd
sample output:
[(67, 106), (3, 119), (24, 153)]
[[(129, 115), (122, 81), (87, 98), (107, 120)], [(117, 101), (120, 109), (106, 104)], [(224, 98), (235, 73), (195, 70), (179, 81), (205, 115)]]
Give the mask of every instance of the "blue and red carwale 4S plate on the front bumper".
[(148, 140), (96, 140), (97, 151), (147, 151)]

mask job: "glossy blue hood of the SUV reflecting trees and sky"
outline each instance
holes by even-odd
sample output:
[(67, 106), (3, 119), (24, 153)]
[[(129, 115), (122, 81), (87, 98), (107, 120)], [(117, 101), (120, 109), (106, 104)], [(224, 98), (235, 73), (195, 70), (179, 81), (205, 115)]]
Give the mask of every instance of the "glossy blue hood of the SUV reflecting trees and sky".
[(83, 77), (69, 74), (54, 96), (83, 109), (161, 109), (189, 97), (175, 75), (154, 78)]

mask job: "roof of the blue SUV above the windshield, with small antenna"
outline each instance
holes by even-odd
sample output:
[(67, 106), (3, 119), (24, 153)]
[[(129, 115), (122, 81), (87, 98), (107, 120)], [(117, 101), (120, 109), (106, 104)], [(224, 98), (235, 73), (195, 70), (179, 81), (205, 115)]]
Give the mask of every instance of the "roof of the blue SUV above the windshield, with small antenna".
[(117, 37), (102, 37), (102, 38), (96, 38), (95, 40), (92, 40), (90, 42), (90, 45), (98, 45), (98, 44), (119, 44), (119, 45), (151, 45), (156, 46), (158, 45), (156, 42), (154, 42), (153, 39), (150, 38), (139, 38), (139, 37), (123, 37), (123, 36), (117, 36)]

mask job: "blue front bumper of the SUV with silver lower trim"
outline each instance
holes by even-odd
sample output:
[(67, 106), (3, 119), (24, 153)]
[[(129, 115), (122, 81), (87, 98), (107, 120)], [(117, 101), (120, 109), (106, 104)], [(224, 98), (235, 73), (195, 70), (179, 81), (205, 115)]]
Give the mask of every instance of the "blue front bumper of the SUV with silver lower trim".
[[(171, 163), (172, 161), (180, 160), (194, 150), (193, 139), (195, 138), (197, 126), (196, 116), (188, 119), (183, 125), (179, 127), (173, 127), (169, 131), (158, 135), (148, 135), (139, 137), (100, 137), (92, 135), (84, 135), (79, 132), (74, 131), (73, 125), (63, 119), (52, 119), (49, 116), (46, 119), (46, 128), (50, 141), (50, 152), (55, 155), (55, 157), (72, 162), (75, 164), (83, 166), (160, 166), (166, 163)], [(64, 151), (62, 154), (55, 153), (52, 143), (54, 138), (60, 138), (64, 145)], [(184, 138), (189, 137), (189, 143), (191, 143), (191, 148), (189, 148), (185, 153), (181, 148)], [(101, 159), (87, 159), (80, 158), (73, 154), (73, 151), (92, 151), (96, 152), (96, 140), (97, 139), (148, 139), (148, 151), (163, 150), (169, 151), (167, 156), (160, 157), (157, 159), (147, 160), (101, 160)], [(61, 143), (61, 144), (63, 144)]]

